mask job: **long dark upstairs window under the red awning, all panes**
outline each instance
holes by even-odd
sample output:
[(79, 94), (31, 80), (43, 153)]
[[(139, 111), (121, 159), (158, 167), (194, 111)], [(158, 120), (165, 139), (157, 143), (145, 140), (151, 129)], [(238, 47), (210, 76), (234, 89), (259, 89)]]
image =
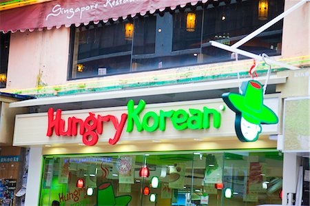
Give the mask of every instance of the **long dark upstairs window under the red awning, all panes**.
[[(208, 1), (124, 21), (72, 28), (69, 79), (231, 61), (232, 45), (283, 12), (284, 1)], [(269, 56), (281, 54), (282, 21), (240, 47)], [(245, 59), (240, 56), (239, 59)]]

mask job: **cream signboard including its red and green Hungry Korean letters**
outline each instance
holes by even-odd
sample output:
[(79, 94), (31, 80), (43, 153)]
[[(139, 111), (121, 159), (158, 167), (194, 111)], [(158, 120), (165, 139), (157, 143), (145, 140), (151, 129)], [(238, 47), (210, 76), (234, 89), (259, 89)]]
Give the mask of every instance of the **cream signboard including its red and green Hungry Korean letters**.
[[(264, 105), (280, 114), (280, 95), (269, 94)], [(223, 99), (146, 104), (130, 100), (123, 107), (17, 114), (14, 146), (201, 140), (236, 136), (236, 113)], [(278, 134), (280, 125), (262, 124), (263, 135)], [(47, 135), (47, 136), (46, 136)], [(48, 137), (48, 138), (47, 138)]]

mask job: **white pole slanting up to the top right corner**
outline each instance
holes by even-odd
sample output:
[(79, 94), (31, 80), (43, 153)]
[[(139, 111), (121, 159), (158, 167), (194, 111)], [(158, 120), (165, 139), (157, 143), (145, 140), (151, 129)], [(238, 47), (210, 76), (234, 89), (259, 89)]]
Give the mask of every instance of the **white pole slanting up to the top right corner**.
[(269, 21), (265, 25), (262, 25), (262, 27), (258, 28), (254, 32), (251, 32), (251, 34), (247, 35), (247, 37), (245, 37), (243, 39), (240, 39), (240, 41), (237, 41), (236, 43), (234, 43), (234, 45), (231, 45), (231, 48), (238, 48), (238, 47), (240, 47), (240, 45), (242, 45), (242, 44), (246, 43), (247, 41), (253, 39), (258, 34), (260, 34), (261, 32), (263, 32), (265, 30), (267, 30), (267, 28), (271, 27), (271, 25), (277, 23), (278, 21), (283, 19), (285, 16), (287, 16), (288, 14), (293, 12), (294, 10), (300, 8), (300, 6), (304, 5), (304, 3), (307, 3), (307, 2), (310, 2), (310, 0), (302, 0), (302, 1), (298, 2), (298, 3), (296, 3), (296, 5), (292, 6), (291, 8), (289, 8), (288, 10), (286, 10), (285, 12), (280, 14), (278, 17), (272, 19), (271, 21)]

